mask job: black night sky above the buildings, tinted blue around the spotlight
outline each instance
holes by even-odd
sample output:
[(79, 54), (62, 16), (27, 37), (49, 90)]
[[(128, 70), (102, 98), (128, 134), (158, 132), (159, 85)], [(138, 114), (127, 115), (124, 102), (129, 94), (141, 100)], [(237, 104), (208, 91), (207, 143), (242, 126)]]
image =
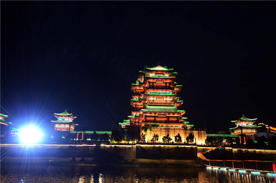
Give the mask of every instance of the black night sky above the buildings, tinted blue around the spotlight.
[(196, 128), (228, 132), (243, 113), (275, 126), (275, 47), (273, 1), (1, 1), (1, 113), (51, 131), (67, 108), (76, 130), (111, 131), (159, 62)]

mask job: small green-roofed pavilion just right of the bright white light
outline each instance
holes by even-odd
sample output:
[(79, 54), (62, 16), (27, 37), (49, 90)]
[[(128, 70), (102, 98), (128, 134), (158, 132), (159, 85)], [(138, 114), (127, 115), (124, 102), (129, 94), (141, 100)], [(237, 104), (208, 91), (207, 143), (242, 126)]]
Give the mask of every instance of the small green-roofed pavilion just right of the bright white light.
[(77, 117), (73, 114), (69, 114), (67, 109), (63, 113), (54, 113), (54, 116), (57, 118), (56, 121), (51, 121), (54, 125), (55, 131), (70, 132), (78, 125), (74, 123), (74, 119)]

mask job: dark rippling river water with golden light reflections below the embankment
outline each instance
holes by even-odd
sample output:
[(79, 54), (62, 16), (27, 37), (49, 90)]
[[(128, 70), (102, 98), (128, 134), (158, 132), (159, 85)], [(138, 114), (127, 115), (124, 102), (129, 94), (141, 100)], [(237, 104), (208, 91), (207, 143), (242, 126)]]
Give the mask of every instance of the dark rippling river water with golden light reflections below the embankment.
[(187, 168), (175, 166), (112, 166), (112, 165), (14, 165), (1, 166), (1, 182), (15, 183), (100, 183), (100, 182), (270, 182), (276, 176), (266, 173)]

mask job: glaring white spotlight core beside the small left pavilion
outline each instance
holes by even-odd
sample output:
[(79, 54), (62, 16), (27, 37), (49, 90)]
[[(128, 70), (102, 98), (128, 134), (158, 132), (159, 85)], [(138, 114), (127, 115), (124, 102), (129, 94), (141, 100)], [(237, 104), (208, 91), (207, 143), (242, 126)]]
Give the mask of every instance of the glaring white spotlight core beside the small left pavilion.
[(25, 127), (20, 130), (20, 141), (23, 144), (35, 144), (40, 140), (42, 133), (33, 126)]

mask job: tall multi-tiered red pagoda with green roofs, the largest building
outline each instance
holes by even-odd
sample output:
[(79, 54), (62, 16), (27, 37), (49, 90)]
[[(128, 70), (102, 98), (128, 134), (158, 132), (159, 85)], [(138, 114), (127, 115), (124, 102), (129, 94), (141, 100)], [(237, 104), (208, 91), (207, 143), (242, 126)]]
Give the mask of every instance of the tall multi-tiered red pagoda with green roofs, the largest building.
[[(173, 68), (160, 64), (153, 68), (145, 66), (144, 71), (139, 71), (136, 83), (131, 84), (132, 114), (119, 123), (121, 128), (140, 129), (142, 132), (144, 126), (153, 126), (155, 131), (151, 132), (158, 133), (159, 137), (168, 133), (171, 136), (180, 133), (182, 139), (186, 139), (188, 132), (183, 131), (191, 130), (194, 125), (191, 125), (186, 117), (182, 117), (186, 111), (178, 109), (183, 103), (178, 94), (183, 86), (177, 84), (177, 75), (178, 72)], [(153, 136), (151, 132), (146, 133), (148, 141)]]

